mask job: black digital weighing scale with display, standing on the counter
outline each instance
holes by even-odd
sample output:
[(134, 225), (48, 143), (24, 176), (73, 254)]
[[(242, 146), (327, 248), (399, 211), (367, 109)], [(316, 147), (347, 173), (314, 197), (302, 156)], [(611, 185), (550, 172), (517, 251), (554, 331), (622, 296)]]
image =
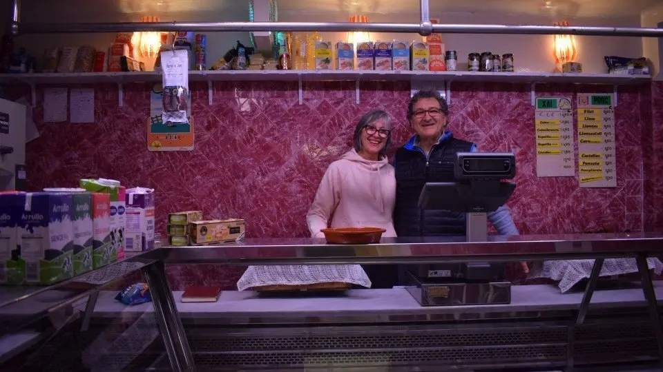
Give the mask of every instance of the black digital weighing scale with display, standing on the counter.
[[(516, 175), (510, 153), (459, 152), (456, 182), (426, 183), (419, 196), (421, 209), (465, 212), (468, 242), (488, 239), (488, 212), (510, 198), (516, 184), (502, 182)], [(511, 283), (503, 262), (465, 262), (407, 267), (407, 291), (422, 306), (508, 304)]]

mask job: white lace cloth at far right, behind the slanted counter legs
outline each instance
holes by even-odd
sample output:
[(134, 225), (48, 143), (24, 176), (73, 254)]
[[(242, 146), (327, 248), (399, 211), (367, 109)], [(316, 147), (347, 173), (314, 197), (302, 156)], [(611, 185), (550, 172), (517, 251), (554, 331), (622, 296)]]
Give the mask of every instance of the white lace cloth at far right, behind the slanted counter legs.
[[(647, 258), (649, 269), (660, 275), (663, 262), (658, 258)], [(550, 278), (559, 280), (559, 289), (564, 293), (580, 280), (589, 278), (594, 260), (548, 260), (530, 265), (528, 279)], [(635, 258), (606, 258), (599, 276), (613, 276), (626, 273), (637, 273)]]

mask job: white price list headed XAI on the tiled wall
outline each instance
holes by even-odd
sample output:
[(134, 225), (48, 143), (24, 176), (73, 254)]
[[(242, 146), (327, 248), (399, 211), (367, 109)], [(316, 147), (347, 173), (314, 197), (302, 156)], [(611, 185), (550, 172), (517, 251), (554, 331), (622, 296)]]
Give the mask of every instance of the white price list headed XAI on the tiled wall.
[(575, 176), (571, 97), (537, 98), (534, 120), (537, 141), (537, 176)]

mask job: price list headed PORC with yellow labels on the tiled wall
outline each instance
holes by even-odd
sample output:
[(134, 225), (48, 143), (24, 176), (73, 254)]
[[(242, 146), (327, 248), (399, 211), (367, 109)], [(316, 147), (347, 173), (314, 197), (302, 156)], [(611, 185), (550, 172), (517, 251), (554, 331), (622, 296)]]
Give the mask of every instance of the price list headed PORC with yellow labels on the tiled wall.
[(578, 94), (580, 187), (617, 187), (611, 94)]

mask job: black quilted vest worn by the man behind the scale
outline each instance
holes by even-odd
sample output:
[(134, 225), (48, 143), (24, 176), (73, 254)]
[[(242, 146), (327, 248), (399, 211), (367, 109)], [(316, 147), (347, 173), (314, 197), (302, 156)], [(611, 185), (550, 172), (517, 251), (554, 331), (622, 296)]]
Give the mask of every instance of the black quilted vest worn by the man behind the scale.
[(419, 149), (396, 151), (396, 207), (398, 236), (465, 236), (465, 214), (419, 209), (419, 195), (427, 182), (454, 182), (457, 152), (470, 152), (472, 143), (449, 136), (435, 145), (426, 159)]

